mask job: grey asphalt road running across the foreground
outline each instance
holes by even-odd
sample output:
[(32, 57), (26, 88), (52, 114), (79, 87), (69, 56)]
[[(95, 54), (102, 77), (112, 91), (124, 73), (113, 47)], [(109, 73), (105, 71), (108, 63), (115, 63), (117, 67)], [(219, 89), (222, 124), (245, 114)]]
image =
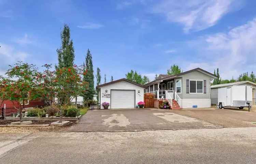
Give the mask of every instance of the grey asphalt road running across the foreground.
[(1, 164), (255, 164), (256, 128), (0, 134)]

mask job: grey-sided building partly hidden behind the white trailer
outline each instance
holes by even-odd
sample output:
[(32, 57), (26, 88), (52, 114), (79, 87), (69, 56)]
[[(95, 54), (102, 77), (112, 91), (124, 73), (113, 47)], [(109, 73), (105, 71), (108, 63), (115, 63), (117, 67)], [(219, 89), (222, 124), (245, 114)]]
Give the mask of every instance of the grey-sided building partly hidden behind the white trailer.
[(253, 105), (256, 104), (256, 83), (251, 81), (237, 81), (234, 83), (218, 84), (211, 86), (211, 104), (218, 104), (218, 88), (232, 87), (232, 86), (252, 86), (253, 88)]

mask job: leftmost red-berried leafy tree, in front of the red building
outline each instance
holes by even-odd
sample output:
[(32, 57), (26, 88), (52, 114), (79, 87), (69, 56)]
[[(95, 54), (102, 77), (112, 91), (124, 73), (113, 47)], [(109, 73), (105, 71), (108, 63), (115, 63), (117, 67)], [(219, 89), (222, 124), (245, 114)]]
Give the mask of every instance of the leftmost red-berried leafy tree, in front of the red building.
[(12, 102), (14, 108), (19, 111), (19, 121), (22, 122), (25, 104), (41, 97), (37, 85), (38, 70), (33, 64), (17, 62), (5, 75), (7, 77), (0, 79), (0, 99)]

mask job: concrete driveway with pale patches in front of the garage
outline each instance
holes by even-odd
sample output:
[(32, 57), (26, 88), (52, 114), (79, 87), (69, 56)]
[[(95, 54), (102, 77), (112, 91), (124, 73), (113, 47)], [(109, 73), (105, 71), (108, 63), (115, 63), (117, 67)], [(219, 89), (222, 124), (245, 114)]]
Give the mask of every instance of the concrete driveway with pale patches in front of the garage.
[(199, 119), (182, 116), (163, 109), (89, 110), (79, 123), (65, 131), (145, 131), (223, 128)]

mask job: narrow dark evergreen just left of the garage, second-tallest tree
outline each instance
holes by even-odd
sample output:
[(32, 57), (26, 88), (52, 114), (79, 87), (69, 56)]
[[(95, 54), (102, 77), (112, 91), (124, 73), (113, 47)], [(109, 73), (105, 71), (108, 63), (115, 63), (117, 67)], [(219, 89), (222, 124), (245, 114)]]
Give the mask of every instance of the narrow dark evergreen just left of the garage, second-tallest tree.
[(87, 74), (84, 75), (83, 81), (87, 81), (88, 91), (86, 92), (84, 96), (84, 100), (93, 100), (93, 95), (95, 94), (94, 90), (94, 73), (93, 73), (93, 59), (90, 53), (90, 50), (88, 48), (87, 54), (85, 57), (85, 69), (87, 70)]

